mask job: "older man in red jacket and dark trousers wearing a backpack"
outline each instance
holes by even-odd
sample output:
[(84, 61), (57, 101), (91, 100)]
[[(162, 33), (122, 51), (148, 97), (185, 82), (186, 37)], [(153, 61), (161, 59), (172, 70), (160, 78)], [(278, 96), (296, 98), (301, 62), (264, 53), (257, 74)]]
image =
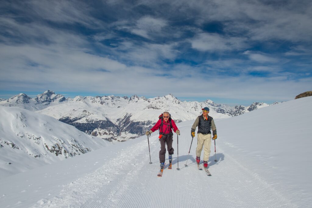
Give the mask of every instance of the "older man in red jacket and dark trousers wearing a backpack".
[(173, 147), (172, 147), (172, 141), (173, 141), (173, 131), (180, 135), (180, 131), (178, 130), (177, 125), (174, 123), (174, 121), (171, 119), (170, 114), (165, 111), (161, 116), (159, 116), (159, 120), (157, 123), (151, 128), (151, 130), (146, 131), (146, 135), (149, 135), (153, 133), (154, 131), (159, 129), (159, 142), (160, 142), (160, 151), (159, 151), (159, 161), (160, 161), (160, 168), (163, 169), (165, 164), (165, 155), (166, 155), (166, 144), (167, 144), (167, 150), (169, 153), (169, 167), (171, 168), (171, 162), (172, 162), (172, 155), (173, 155)]

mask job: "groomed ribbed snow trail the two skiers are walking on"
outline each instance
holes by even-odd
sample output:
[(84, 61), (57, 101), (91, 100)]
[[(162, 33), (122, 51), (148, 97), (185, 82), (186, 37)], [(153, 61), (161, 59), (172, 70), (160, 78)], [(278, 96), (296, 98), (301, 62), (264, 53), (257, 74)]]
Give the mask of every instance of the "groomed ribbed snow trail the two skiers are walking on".
[[(178, 126), (181, 132), (191, 127)], [(150, 137), (152, 164), (149, 164), (147, 138), (124, 149), (95, 172), (68, 184), (58, 196), (42, 199), (34, 207), (290, 207), (291, 203), (218, 149), (216, 164), (214, 154), (209, 159), (212, 177), (198, 170), (195, 161), (196, 144), (192, 145), (185, 167), (191, 137), (179, 137), (179, 168), (177, 155), (173, 169), (168, 167), (166, 154), (163, 177), (159, 171), (159, 142), (157, 132)], [(176, 135), (173, 148), (177, 152)]]

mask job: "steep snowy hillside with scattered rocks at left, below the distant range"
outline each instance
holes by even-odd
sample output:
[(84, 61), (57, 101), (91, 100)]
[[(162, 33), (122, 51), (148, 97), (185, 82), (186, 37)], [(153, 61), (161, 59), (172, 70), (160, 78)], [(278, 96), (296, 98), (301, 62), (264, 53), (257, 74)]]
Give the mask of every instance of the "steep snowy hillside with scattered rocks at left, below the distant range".
[(110, 145), (50, 116), (0, 106), (0, 175), (38, 166)]

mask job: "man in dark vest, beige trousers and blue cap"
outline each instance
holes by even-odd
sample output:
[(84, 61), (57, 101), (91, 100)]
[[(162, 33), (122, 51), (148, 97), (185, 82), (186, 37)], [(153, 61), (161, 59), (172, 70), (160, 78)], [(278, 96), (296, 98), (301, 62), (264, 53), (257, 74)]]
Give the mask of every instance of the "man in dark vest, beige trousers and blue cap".
[(196, 162), (200, 163), (200, 156), (202, 154), (202, 148), (204, 147), (204, 168), (208, 168), (208, 160), (210, 156), (211, 147), (211, 131), (213, 137), (212, 139), (217, 139), (217, 129), (216, 125), (211, 116), (208, 116), (209, 108), (202, 108), (202, 115), (198, 116), (192, 126), (191, 136), (195, 137), (195, 129), (198, 126), (197, 131), (197, 148), (196, 148)]

